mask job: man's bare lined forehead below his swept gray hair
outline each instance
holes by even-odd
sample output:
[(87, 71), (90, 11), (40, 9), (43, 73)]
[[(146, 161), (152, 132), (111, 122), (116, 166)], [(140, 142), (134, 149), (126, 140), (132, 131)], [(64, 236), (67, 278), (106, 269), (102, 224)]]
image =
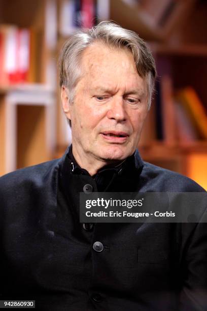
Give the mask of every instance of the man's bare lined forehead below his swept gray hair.
[(126, 48), (108, 47), (96, 42), (85, 49), (81, 59), (83, 77), (87, 83), (96, 84), (104, 80), (105, 85), (142, 84), (144, 81), (137, 73), (132, 53)]

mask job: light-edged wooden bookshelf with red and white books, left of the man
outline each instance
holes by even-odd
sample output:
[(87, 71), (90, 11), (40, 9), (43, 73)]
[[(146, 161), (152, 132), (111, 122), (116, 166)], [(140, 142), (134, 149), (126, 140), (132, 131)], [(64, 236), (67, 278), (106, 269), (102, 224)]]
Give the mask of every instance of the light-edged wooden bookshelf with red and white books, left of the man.
[[(50, 160), (54, 154), (56, 1), (11, 0), (8, 4), (0, 0), (0, 12), (1, 73), (6, 76), (0, 79), (0, 175), (3, 175)], [(19, 39), (22, 29), (29, 37), (24, 45)], [(4, 58), (9, 40), (16, 64), (12, 73), (7, 70)], [(23, 57), (29, 59), (24, 76), (19, 74), (22, 49)], [(12, 75), (15, 78), (11, 79)]]

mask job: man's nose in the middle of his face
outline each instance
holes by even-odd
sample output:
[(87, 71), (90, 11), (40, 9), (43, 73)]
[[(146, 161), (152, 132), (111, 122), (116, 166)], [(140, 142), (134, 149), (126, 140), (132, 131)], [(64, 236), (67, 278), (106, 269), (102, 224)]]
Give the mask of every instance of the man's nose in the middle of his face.
[(114, 119), (117, 122), (122, 122), (126, 120), (126, 111), (122, 98), (114, 98), (112, 100), (110, 108), (107, 112), (107, 117), (109, 119)]

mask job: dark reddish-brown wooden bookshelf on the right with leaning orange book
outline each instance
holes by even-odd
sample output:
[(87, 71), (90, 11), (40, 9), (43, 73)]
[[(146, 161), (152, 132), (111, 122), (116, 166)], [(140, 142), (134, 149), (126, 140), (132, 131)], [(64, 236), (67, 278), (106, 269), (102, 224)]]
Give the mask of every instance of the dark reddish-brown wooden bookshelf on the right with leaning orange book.
[[(200, 183), (205, 189), (207, 189), (207, 139), (199, 136), (190, 140), (185, 137), (178, 139), (180, 129), (176, 114), (175, 95), (178, 91), (183, 91), (190, 86), (207, 115), (206, 14), (206, 3), (196, 1), (191, 10), (188, 10), (185, 22), (178, 23), (174, 29), (172, 28), (169, 38), (162, 42), (150, 42), (157, 63), (161, 93), (163, 88), (161, 116), (164, 137), (151, 139), (151, 143), (146, 140), (140, 146), (145, 160), (185, 174)], [(156, 106), (157, 103), (154, 105)], [(194, 105), (196, 105), (195, 102)], [(153, 116), (156, 128), (156, 111)], [(201, 116), (198, 116), (197, 122), (200, 122), (200, 119)], [(149, 127), (145, 131), (145, 136), (147, 133), (151, 135)]]

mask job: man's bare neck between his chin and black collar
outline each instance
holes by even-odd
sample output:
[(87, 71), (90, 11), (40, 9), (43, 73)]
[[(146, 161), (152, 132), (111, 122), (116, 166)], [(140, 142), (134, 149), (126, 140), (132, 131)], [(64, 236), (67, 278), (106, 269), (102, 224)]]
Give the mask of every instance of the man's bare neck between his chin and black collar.
[(81, 157), (78, 150), (73, 146), (73, 156), (81, 168), (84, 168), (89, 172), (91, 176), (95, 175), (101, 168), (107, 165), (118, 165), (123, 161), (105, 161), (102, 159), (94, 159), (90, 154), (86, 154), (84, 157)]

